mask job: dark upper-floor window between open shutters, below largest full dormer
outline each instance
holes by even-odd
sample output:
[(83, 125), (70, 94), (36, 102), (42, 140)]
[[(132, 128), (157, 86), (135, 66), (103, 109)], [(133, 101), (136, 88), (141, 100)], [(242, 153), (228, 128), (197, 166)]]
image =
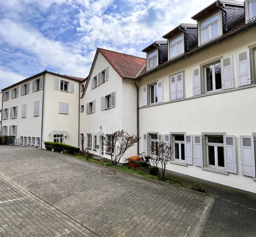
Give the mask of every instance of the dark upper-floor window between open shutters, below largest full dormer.
[(221, 66), (220, 62), (205, 67), (206, 92), (221, 90)]

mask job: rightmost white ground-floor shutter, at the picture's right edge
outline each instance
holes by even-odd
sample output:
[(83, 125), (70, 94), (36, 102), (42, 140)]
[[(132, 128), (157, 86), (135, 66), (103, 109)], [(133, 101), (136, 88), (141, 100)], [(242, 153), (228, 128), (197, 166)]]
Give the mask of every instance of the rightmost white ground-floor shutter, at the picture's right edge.
[(240, 136), (242, 175), (255, 177), (254, 137)]

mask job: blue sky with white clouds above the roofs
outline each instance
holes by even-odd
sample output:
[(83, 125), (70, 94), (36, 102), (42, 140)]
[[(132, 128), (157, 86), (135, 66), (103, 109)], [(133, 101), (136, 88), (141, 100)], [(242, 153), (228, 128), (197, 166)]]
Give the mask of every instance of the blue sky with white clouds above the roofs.
[(214, 0), (0, 0), (0, 89), (44, 70), (87, 77), (97, 47), (141, 50)]

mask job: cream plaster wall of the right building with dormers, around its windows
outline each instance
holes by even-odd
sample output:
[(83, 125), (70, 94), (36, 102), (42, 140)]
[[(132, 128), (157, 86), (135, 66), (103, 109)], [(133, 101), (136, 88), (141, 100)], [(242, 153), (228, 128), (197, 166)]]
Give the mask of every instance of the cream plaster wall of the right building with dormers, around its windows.
[[(255, 29), (248, 30), (225, 42), (210, 47), (205, 51), (186, 58), (163, 70), (144, 77), (139, 85), (139, 103), (142, 106), (142, 87), (155, 80), (163, 80), (164, 102), (169, 101), (169, 75), (185, 70), (185, 95), (193, 96), (192, 73), (199, 64), (218, 58), (233, 55), (234, 84), (237, 87), (237, 58), (239, 51), (256, 43)], [(147, 132), (226, 132), (236, 136), (237, 174), (223, 175), (203, 171), (200, 167), (170, 164), (167, 169), (205, 179), (208, 181), (232, 186), (256, 193), (256, 182), (251, 177), (241, 175), (240, 135), (252, 135), (256, 131), (254, 117), (256, 111), (256, 87), (212, 94), (200, 98), (167, 103), (152, 107), (140, 108), (140, 136)], [(140, 152), (143, 142), (140, 141)]]

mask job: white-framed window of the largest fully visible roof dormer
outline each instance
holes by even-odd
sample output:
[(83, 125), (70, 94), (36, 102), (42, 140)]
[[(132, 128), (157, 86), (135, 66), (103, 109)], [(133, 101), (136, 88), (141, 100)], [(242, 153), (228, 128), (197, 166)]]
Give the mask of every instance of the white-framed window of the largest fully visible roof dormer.
[(201, 23), (201, 41), (206, 42), (216, 36), (219, 36), (219, 15), (214, 15), (210, 19)]

